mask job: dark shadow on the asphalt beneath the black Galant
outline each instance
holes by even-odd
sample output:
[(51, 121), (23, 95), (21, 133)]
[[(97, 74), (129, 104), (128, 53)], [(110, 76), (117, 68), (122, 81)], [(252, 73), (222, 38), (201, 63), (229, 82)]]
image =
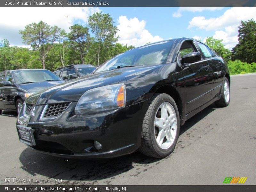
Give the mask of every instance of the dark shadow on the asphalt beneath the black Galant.
[[(181, 126), (180, 134), (186, 132), (190, 127), (214, 111), (215, 108), (216, 106), (212, 104), (189, 119)], [(22, 164), (20, 168), (33, 176), (38, 174), (48, 178), (66, 180), (61, 184), (96, 185), (98, 180), (116, 179), (120, 177), (121, 173), (132, 169), (136, 169), (136, 174), (139, 174), (161, 160), (144, 156), (140, 152), (110, 159), (65, 159), (36, 153), (26, 148), (20, 154), (20, 162)], [(107, 180), (106, 184), (109, 184), (108, 182), (110, 181)]]

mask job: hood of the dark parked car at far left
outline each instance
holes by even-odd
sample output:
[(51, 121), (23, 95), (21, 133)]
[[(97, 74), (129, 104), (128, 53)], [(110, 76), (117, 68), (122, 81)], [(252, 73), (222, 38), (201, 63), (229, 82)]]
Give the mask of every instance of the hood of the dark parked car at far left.
[(63, 82), (64, 81), (43, 81), (43, 82), (37, 82), (37, 83), (20, 84), (19, 87), (30, 93), (36, 93), (45, 88), (49, 88)]

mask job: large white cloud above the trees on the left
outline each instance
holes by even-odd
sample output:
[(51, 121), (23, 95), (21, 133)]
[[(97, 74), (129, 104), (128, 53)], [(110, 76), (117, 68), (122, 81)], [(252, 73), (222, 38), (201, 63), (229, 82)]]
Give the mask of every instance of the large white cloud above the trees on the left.
[(87, 22), (88, 17), (99, 8), (89, 7), (1, 7), (0, 8), (0, 39), (7, 38), (11, 44), (21, 45), (20, 30), (30, 23), (40, 20), (50, 26), (57, 25), (69, 32), (75, 20)]

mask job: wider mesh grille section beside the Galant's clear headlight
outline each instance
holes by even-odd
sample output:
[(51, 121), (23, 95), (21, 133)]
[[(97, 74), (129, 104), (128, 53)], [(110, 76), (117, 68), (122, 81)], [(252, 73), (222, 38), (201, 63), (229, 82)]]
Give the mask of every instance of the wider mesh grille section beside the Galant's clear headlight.
[(60, 116), (69, 106), (68, 103), (49, 104), (44, 112), (43, 118), (52, 118)]

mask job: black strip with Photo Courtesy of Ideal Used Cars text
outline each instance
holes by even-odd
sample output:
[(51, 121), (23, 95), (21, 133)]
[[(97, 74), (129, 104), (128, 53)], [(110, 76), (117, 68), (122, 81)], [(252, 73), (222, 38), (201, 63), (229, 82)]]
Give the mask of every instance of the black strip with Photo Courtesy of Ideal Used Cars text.
[(0, 186), (1, 192), (158, 192), (158, 191), (172, 191), (172, 192), (255, 192), (256, 186), (246, 186), (246, 185), (156, 185), (156, 186), (31, 186), (31, 185), (21, 185), (21, 186)]

